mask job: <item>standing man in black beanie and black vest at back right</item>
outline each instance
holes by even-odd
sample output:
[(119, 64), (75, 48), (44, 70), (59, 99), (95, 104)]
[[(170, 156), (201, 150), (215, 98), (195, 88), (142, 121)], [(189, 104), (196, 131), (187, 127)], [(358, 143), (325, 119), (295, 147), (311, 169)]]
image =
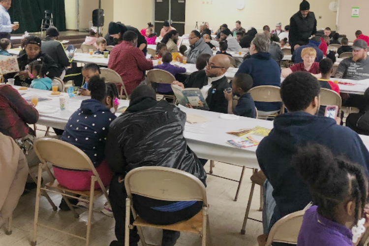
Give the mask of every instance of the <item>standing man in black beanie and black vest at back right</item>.
[(310, 4), (307, 0), (303, 0), (300, 3), (300, 11), (290, 19), (289, 43), (292, 53), (297, 43), (306, 45), (309, 42), (309, 37), (316, 33), (315, 15), (309, 9)]

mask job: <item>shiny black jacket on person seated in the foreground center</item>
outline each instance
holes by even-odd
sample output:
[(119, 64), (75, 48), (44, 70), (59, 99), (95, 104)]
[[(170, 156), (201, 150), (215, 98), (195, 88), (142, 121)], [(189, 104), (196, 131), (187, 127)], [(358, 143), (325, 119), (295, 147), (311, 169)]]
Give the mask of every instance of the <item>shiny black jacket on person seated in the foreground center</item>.
[(183, 136), (186, 115), (167, 101), (136, 98), (110, 124), (106, 160), (115, 174), (142, 166), (162, 166), (188, 172), (204, 184), (206, 172)]

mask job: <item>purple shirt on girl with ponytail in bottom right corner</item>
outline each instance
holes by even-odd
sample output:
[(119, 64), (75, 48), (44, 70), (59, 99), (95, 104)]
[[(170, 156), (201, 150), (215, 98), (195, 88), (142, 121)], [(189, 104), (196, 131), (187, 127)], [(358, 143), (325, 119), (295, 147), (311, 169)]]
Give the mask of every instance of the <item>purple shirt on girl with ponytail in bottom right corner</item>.
[(351, 230), (319, 215), (317, 208), (306, 211), (297, 246), (352, 246)]

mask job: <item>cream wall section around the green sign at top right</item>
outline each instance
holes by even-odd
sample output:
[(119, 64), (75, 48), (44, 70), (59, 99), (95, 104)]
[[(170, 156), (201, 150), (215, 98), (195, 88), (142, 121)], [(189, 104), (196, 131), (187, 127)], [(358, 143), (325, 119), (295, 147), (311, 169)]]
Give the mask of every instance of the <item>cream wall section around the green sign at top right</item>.
[[(351, 17), (352, 7), (359, 7), (359, 17)], [(369, 35), (369, 0), (340, 0), (338, 32), (346, 34), (349, 41), (355, 40), (355, 31)]]

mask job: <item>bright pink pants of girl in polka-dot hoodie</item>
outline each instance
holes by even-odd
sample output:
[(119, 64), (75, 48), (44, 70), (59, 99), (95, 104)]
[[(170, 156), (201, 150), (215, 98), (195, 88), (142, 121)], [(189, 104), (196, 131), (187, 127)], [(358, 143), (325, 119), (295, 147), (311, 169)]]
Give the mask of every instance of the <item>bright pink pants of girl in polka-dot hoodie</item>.
[[(100, 176), (102, 184), (107, 186), (113, 177), (113, 172), (109, 168), (108, 163), (104, 160), (96, 167), (96, 171)], [(69, 169), (61, 169), (54, 167), (54, 175), (59, 184), (71, 190), (90, 190), (92, 171), (77, 171)], [(95, 182), (95, 189), (100, 188), (100, 185)]]

